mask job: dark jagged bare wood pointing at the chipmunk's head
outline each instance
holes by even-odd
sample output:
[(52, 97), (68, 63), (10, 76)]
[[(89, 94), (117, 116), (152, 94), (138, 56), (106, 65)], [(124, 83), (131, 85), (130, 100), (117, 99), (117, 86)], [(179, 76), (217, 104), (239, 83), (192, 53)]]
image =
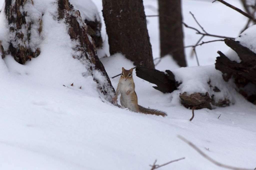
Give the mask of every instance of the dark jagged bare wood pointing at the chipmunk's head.
[(155, 69), (137, 67), (136, 75), (157, 85), (153, 86), (153, 88), (163, 93), (172, 93), (174, 90), (177, 90), (178, 83), (175, 81), (174, 75), (170, 70), (166, 70), (166, 73), (164, 73)]

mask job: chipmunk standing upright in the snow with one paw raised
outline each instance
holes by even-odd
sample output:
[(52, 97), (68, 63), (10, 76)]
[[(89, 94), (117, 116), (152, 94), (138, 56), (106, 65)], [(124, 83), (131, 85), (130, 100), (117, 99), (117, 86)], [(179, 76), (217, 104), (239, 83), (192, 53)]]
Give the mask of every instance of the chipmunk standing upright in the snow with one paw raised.
[(130, 109), (131, 111), (166, 116), (167, 114), (163, 111), (159, 111), (156, 109), (147, 109), (138, 105), (138, 98), (134, 90), (135, 84), (132, 78), (132, 71), (133, 68), (131, 68), (130, 70), (125, 70), (124, 68), (122, 68), (122, 74), (118, 82), (115, 98), (113, 98), (112, 102), (117, 102), (117, 97), (121, 93), (120, 102), (122, 106)]

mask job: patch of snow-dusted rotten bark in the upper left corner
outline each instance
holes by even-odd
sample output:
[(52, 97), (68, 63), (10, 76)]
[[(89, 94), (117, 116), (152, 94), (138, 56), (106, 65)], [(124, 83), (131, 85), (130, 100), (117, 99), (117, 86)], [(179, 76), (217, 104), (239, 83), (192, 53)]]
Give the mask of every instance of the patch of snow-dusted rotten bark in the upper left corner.
[[(40, 54), (40, 49), (36, 47), (38, 44), (31, 42), (30, 38), (37, 36), (40, 39), (40, 32), (42, 31), (42, 17), (36, 16), (36, 19), (32, 19), (31, 13), (24, 10), (26, 9), (25, 5), (33, 5), (33, 1), (6, 0), (4, 9), (10, 30), (10, 41), (8, 42), (8, 49), (1, 46), (1, 51), (4, 51), (2, 58), (5, 54), (11, 54), (20, 64), (25, 64), (27, 60)], [(31, 30), (34, 30), (33, 27), (37, 27), (37, 33), (31, 33)]]

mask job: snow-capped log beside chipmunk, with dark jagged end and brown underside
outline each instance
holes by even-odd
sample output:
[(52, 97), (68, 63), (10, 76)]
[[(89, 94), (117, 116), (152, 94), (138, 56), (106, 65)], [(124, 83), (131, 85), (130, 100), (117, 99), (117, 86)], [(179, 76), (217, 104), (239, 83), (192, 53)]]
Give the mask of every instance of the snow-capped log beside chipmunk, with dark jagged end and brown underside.
[(153, 88), (163, 93), (178, 90), (180, 102), (186, 108), (214, 109), (229, 106), (232, 101), (230, 89), (224, 85), (221, 74), (213, 66), (186, 67), (165, 72), (137, 67), (136, 75), (156, 84), (157, 87)]

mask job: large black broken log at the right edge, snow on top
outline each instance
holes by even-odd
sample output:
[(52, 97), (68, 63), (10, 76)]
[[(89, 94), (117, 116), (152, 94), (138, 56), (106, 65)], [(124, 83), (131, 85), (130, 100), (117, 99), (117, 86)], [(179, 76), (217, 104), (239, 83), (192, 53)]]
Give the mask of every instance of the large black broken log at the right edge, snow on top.
[[(225, 81), (234, 77), (234, 83), (239, 88), (239, 93), (256, 104), (256, 54), (239, 44), (238, 41), (230, 39), (224, 41), (236, 51), (242, 61), (240, 63), (231, 61), (221, 51), (218, 51), (220, 57), (216, 59), (215, 68), (223, 73), (222, 77)], [(251, 85), (247, 86), (249, 84)]]

